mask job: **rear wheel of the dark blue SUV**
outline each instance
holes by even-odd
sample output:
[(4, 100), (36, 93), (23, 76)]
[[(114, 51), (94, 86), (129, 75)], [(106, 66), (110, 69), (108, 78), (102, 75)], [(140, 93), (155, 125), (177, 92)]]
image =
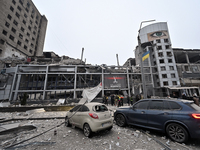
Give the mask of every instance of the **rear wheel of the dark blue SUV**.
[(166, 132), (173, 141), (183, 143), (188, 140), (188, 132), (179, 124), (170, 123), (166, 128)]

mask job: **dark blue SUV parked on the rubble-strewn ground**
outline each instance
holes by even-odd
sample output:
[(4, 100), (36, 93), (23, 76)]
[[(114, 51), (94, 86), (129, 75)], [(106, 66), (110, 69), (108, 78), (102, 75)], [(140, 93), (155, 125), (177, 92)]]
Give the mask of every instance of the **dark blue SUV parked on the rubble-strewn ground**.
[(200, 138), (200, 107), (189, 100), (144, 99), (114, 113), (120, 127), (135, 125), (159, 130), (176, 142)]

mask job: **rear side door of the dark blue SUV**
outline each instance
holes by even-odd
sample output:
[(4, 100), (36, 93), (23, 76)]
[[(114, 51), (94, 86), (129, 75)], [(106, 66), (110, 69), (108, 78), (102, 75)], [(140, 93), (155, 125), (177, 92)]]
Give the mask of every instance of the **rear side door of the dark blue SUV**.
[(165, 122), (172, 118), (172, 111), (165, 100), (151, 100), (146, 111), (150, 128), (162, 130)]

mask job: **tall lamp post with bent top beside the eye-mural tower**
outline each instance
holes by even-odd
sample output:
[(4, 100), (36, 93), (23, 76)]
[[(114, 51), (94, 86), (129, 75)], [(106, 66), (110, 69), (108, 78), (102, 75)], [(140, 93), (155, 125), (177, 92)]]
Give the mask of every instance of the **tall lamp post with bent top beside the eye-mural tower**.
[(143, 88), (143, 96), (144, 96), (144, 98), (147, 98), (147, 91), (146, 91), (145, 76), (144, 76), (144, 71), (143, 71), (143, 62), (142, 62), (142, 55), (141, 55), (143, 53), (143, 49), (141, 47), (141, 40), (140, 40), (139, 34), (140, 34), (140, 30), (141, 30), (142, 24), (146, 23), (146, 22), (152, 22), (152, 21), (156, 21), (156, 20), (142, 21), (140, 23), (140, 29), (138, 31), (138, 49), (139, 49), (139, 54), (140, 54), (139, 57), (141, 57), (140, 58), (140, 65), (141, 65), (141, 67), (140, 67), (141, 69), (140, 70), (141, 70), (141, 75), (142, 75), (142, 88)]

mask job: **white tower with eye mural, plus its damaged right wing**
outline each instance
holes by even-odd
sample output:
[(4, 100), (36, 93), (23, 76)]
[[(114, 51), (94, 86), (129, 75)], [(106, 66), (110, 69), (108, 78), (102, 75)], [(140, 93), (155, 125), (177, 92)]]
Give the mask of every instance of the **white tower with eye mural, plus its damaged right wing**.
[(200, 50), (172, 48), (166, 22), (139, 30), (135, 50), (136, 66), (141, 66), (144, 95), (166, 97), (174, 91), (177, 97), (186, 93), (199, 95)]

